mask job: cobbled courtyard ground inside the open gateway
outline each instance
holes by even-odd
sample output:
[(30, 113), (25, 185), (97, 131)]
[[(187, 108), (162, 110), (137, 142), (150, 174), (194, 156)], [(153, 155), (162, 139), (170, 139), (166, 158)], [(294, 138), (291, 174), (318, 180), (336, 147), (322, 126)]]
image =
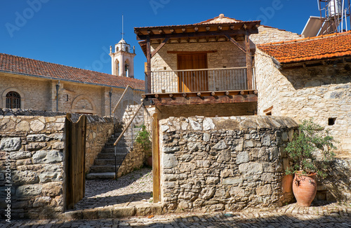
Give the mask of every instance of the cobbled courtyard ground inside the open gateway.
[(74, 210), (121, 205), (133, 202), (150, 202), (152, 168), (141, 168), (118, 180), (86, 180), (86, 195)]

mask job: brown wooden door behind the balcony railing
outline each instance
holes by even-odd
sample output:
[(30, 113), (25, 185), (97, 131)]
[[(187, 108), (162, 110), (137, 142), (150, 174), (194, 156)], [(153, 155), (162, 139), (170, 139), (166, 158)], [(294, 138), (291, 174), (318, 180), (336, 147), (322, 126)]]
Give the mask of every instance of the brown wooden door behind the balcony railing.
[[(178, 69), (207, 69), (207, 54), (179, 54)], [(207, 90), (207, 71), (178, 72), (179, 92), (197, 92)]]

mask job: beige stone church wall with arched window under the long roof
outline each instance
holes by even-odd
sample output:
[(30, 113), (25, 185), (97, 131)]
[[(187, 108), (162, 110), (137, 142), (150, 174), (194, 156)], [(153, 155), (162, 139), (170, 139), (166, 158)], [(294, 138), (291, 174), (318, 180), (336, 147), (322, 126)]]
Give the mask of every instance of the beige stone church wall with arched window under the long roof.
[[(6, 107), (6, 93), (18, 92), (21, 96), (21, 109), (36, 109), (54, 112), (56, 110), (57, 80), (41, 79), (35, 76), (20, 76), (0, 73), (0, 108)], [(69, 113), (110, 115), (109, 86), (94, 86), (85, 83), (60, 81), (58, 91), (58, 110)], [(121, 98), (124, 88), (112, 88), (112, 107)], [(135, 90), (133, 104), (140, 103), (143, 91)]]

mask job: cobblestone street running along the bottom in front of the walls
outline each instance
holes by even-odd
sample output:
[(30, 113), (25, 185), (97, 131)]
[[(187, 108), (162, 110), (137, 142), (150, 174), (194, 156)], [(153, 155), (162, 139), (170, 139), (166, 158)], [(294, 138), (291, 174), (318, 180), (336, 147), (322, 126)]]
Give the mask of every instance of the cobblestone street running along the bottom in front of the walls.
[(300, 215), (286, 213), (182, 213), (107, 220), (20, 220), (8, 227), (351, 227), (351, 213)]

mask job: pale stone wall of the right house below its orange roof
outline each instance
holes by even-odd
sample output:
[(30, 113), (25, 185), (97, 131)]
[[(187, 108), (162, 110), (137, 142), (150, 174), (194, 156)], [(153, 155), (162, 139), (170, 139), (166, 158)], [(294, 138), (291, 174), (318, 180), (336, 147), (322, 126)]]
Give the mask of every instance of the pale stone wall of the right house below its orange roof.
[(258, 50), (256, 82), (258, 114), (272, 107), (274, 116), (313, 117), (340, 142), (338, 156), (351, 159), (350, 64), (279, 70)]

